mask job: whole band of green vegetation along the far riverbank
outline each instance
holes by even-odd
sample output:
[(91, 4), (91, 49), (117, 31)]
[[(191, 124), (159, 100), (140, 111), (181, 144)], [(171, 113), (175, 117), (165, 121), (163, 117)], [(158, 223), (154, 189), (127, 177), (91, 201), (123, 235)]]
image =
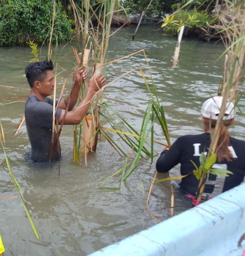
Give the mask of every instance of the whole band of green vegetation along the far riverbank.
[[(176, 35), (178, 34), (178, 28), (185, 25), (184, 34), (186, 36), (209, 40), (213, 38), (213, 33), (216, 32), (212, 26), (217, 24), (220, 15), (218, 11), (220, 4), (218, 0), (116, 0), (116, 12), (111, 23), (116, 26), (130, 25), (131, 21), (125, 13), (137, 16), (144, 12), (143, 19), (153, 20), (154, 23), (158, 23), (158, 27), (162, 25), (165, 34)], [(86, 1), (56, 1), (53, 43), (71, 41), (75, 39), (75, 35), (82, 33), (82, 31), (79, 31), (81, 27), (77, 26), (79, 16), (84, 19), (89, 14), (91, 23), (88, 26), (90, 28), (97, 26), (97, 17), (105, 5), (103, 1), (99, 0), (89, 1), (89, 5), (89, 10), (86, 10)], [(26, 45), (26, 42), (29, 41), (39, 45), (48, 44), (52, 10), (52, 1), (0, 1), (0, 46)], [(174, 12), (176, 14), (169, 22), (168, 16), (172, 16)], [(217, 35), (214, 38), (217, 38)]]

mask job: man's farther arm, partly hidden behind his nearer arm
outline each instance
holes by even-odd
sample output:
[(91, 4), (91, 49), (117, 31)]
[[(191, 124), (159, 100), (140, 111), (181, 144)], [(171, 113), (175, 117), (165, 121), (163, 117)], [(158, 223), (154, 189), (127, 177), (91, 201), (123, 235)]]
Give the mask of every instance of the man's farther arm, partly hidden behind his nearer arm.
[(68, 111), (71, 111), (73, 109), (73, 107), (75, 106), (75, 104), (77, 102), (78, 94), (79, 94), (80, 87), (81, 87), (81, 80), (82, 79), (86, 80), (86, 78), (87, 78), (87, 71), (86, 70), (78, 70), (76, 72), (75, 78), (74, 78), (74, 83), (73, 83), (73, 86), (72, 86), (72, 90), (71, 90), (69, 96), (64, 101), (61, 101), (59, 103), (58, 108), (66, 110), (66, 106), (68, 104), (69, 97), (71, 97), (71, 101), (70, 101)]

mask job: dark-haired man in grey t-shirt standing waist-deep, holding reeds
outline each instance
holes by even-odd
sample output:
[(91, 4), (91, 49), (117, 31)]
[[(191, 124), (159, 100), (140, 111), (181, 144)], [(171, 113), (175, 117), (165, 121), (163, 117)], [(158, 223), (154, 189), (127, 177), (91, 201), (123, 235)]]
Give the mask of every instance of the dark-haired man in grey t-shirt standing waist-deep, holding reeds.
[[(26, 66), (26, 78), (31, 86), (31, 92), (25, 106), (25, 119), (28, 137), (31, 143), (31, 151), (27, 152), (25, 158), (34, 162), (46, 162), (51, 154), (51, 137), (53, 124), (53, 100), (47, 96), (54, 90), (53, 63), (48, 60), (43, 62), (34, 62)], [(89, 107), (89, 101), (96, 91), (105, 85), (105, 77), (102, 74), (92, 76), (88, 81), (88, 89), (81, 103), (73, 109), (77, 102), (78, 93), (81, 87), (81, 80), (86, 80), (87, 72), (85, 70), (77, 71), (70, 95), (58, 104), (57, 118), (61, 124), (79, 124)], [(70, 104), (65, 116), (67, 104)], [(87, 103), (88, 102), (88, 103)], [(56, 104), (58, 100), (56, 101)], [(56, 141), (56, 133), (54, 142)], [(51, 161), (60, 158), (61, 149), (58, 146), (53, 151)]]

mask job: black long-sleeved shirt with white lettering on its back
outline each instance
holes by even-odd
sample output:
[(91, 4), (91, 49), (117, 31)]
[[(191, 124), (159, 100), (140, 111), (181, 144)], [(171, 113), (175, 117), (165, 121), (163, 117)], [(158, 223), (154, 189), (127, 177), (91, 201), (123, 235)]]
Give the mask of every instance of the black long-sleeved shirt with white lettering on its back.
[[(187, 177), (182, 178), (180, 187), (187, 193), (195, 195), (199, 181), (193, 174), (195, 167), (190, 160), (194, 161), (199, 167), (200, 154), (201, 152), (208, 152), (209, 146), (209, 133), (182, 136), (173, 143), (169, 150), (162, 152), (157, 160), (157, 171), (167, 172), (180, 163), (181, 175), (190, 173)], [(245, 175), (245, 142), (230, 137), (229, 150), (233, 155), (232, 162), (228, 162), (224, 158), (222, 162), (214, 164), (213, 168), (227, 169), (233, 174), (230, 174), (229, 177), (218, 177), (209, 174), (204, 195), (209, 194), (214, 197), (243, 182)]]

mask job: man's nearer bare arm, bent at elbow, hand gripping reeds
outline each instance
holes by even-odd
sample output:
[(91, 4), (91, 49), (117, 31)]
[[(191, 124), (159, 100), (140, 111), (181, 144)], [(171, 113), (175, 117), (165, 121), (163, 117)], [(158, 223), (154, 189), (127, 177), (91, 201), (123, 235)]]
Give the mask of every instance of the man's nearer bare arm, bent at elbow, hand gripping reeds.
[(85, 117), (89, 107), (89, 103), (93, 98), (94, 94), (105, 85), (105, 82), (105, 77), (102, 74), (97, 75), (96, 78), (95, 76), (92, 76), (92, 78), (88, 82), (88, 89), (81, 103), (74, 110), (67, 112), (66, 116), (65, 110), (62, 110), (62, 113), (58, 120), (59, 124), (62, 123), (64, 116), (64, 124), (79, 124), (82, 121), (83, 117)]

